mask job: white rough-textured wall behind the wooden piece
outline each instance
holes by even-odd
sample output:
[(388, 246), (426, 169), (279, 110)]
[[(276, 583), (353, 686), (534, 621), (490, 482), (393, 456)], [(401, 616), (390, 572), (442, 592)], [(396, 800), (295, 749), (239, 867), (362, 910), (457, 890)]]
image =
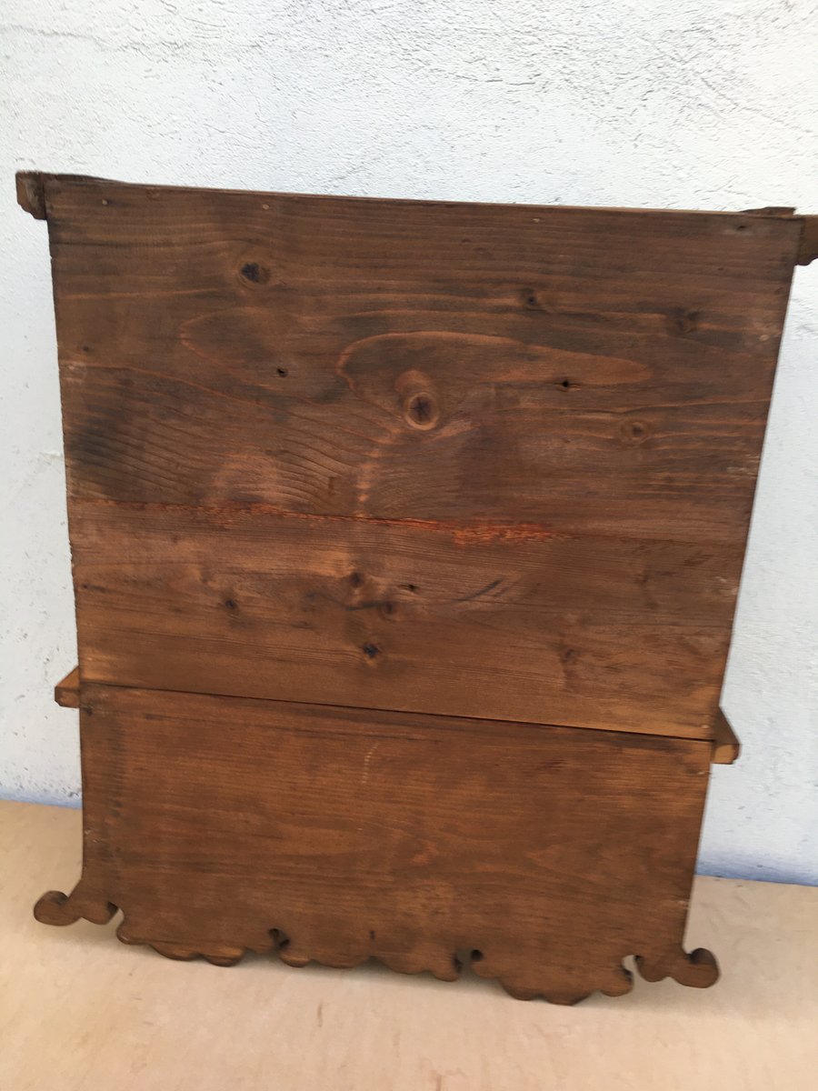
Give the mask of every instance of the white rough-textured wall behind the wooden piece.
[[(17, 168), (381, 196), (818, 212), (809, 0), (4, 0), (0, 794), (75, 801), (46, 225)], [(818, 263), (798, 271), (702, 870), (818, 882)]]

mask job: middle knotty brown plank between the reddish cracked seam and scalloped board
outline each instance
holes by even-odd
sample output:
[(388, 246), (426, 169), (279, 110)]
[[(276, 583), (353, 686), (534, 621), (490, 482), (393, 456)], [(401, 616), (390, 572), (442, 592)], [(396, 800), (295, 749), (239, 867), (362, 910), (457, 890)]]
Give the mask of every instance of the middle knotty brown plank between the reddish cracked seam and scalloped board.
[(741, 553), (74, 502), (86, 681), (710, 738)]

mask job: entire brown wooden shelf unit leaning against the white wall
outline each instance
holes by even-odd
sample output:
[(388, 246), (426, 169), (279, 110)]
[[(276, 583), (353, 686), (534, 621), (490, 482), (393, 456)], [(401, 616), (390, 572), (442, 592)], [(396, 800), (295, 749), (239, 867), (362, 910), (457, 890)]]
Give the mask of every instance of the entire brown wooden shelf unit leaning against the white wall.
[(790, 209), (19, 177), (48, 220), (85, 854), (49, 923), (574, 1002), (682, 948)]

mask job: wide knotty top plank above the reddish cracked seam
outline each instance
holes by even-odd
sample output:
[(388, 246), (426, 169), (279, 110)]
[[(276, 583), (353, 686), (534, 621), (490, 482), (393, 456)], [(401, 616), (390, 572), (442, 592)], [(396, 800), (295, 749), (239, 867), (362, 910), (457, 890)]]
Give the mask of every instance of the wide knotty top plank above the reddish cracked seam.
[(744, 539), (797, 217), (45, 192), (74, 496)]

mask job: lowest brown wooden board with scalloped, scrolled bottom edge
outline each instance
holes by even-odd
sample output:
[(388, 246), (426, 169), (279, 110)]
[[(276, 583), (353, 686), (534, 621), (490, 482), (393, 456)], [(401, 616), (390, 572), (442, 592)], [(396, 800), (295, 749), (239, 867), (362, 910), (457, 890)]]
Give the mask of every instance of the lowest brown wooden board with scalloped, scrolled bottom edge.
[[(85, 849), (47, 923), (217, 964), (374, 957), (515, 996), (711, 984), (682, 939), (705, 742), (84, 685)], [(592, 801), (592, 803), (591, 803)], [(604, 816), (604, 820), (601, 817)]]

